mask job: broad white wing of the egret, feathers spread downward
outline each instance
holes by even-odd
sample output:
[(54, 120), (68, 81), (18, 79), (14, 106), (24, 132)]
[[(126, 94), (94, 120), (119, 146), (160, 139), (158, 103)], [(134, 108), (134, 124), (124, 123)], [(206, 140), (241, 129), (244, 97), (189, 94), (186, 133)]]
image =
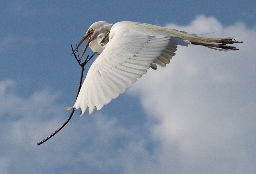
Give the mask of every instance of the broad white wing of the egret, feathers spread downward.
[(73, 106), (81, 108), (80, 116), (87, 107), (91, 114), (95, 106), (100, 110), (123, 94), (149, 67), (156, 69), (156, 64), (165, 67), (175, 55), (176, 45), (188, 44), (161, 31), (114, 26), (111, 40), (88, 70)]

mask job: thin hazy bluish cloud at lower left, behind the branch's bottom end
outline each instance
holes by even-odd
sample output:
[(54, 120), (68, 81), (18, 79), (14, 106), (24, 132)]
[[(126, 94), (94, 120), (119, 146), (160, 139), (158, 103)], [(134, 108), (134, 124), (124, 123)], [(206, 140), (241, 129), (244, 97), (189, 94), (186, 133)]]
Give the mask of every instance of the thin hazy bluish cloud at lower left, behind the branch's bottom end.
[[(100, 113), (74, 117), (47, 143), (69, 115), (58, 104), (61, 94), (38, 90), (28, 98), (16, 94), (13, 80), (0, 81), (0, 171), (11, 173), (109, 173), (131, 171), (151, 162), (148, 125), (132, 129)], [(66, 115), (66, 116), (65, 116)], [(89, 169), (89, 170), (88, 170)]]

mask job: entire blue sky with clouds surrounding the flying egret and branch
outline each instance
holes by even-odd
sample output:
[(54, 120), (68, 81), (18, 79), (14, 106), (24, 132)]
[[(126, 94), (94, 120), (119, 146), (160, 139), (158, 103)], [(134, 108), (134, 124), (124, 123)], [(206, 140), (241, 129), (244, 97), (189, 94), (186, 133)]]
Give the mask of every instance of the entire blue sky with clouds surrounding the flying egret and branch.
[[(70, 44), (93, 22), (125, 20), (244, 43), (235, 52), (179, 46), (165, 68), (92, 115), (76, 111), (38, 146), (74, 104), (80, 66)], [(254, 0), (1, 0), (1, 173), (255, 173), (255, 40)]]

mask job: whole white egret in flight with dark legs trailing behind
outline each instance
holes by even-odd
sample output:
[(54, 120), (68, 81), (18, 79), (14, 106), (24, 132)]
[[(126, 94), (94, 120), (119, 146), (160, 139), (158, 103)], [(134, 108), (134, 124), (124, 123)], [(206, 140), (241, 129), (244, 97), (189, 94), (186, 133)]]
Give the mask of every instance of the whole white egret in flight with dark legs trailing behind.
[(177, 45), (203, 45), (216, 50), (238, 50), (227, 44), (242, 43), (233, 38), (206, 38), (146, 23), (95, 22), (74, 51), (88, 39), (88, 47), (99, 55), (89, 68), (73, 110), (86, 108), (92, 114), (130, 88), (148, 68), (165, 67), (175, 56)]

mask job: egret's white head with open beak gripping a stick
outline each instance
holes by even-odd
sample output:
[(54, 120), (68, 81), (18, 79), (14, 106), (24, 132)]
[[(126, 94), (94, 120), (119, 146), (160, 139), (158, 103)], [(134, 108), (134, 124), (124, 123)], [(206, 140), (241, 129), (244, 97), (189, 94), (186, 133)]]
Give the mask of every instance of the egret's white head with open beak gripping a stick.
[(101, 47), (100, 42), (104, 40), (105, 37), (109, 34), (109, 31), (112, 26), (113, 26), (112, 24), (104, 21), (93, 23), (90, 26), (90, 28), (86, 31), (84, 37), (81, 39), (79, 44), (76, 46), (76, 49), (74, 50), (74, 52), (76, 52), (78, 47), (88, 39), (88, 42), (81, 55), (81, 58), (83, 57), (88, 46), (92, 49), (93, 52), (97, 54), (101, 53), (103, 51), (103, 48), (100, 48)]

